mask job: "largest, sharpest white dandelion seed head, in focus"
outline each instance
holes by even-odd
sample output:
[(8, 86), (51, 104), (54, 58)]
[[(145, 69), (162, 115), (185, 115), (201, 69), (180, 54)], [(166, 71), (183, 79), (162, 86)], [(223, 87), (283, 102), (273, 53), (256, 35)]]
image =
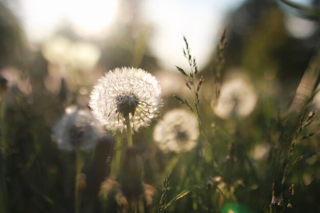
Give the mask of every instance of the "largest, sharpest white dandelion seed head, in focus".
[(149, 126), (162, 106), (158, 81), (143, 69), (116, 68), (98, 80), (89, 106), (94, 116), (108, 130), (126, 129), (124, 115), (131, 127)]

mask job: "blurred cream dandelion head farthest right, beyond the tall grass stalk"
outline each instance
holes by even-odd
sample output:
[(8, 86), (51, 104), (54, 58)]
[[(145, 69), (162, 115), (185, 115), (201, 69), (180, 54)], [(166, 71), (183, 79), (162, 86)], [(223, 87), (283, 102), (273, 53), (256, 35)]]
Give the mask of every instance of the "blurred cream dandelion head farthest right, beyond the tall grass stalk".
[(215, 112), (222, 119), (231, 116), (245, 117), (255, 109), (256, 104), (254, 87), (244, 76), (233, 75), (221, 86)]

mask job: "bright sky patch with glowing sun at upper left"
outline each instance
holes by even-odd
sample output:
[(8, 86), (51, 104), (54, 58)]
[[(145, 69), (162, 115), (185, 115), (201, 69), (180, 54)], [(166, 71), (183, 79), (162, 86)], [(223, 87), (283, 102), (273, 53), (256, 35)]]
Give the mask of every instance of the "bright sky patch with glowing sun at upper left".
[[(91, 36), (115, 19), (117, 0), (17, 0), (12, 5), (31, 42), (48, 40), (65, 23)], [(9, 2), (10, 3), (10, 2)]]

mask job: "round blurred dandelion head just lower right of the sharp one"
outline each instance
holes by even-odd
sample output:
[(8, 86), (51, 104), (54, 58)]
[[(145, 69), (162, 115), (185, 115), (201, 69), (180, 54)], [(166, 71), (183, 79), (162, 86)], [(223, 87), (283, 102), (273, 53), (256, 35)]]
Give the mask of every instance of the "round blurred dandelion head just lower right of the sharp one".
[(198, 137), (198, 121), (184, 109), (167, 112), (153, 132), (153, 139), (164, 152), (190, 151), (197, 145)]

